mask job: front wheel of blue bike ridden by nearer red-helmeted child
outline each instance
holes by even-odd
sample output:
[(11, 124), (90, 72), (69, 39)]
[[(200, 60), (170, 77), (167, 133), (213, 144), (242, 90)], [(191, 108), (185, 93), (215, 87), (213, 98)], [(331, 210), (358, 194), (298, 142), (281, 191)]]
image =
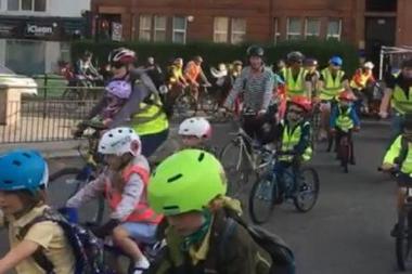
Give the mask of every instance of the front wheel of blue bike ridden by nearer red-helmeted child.
[(249, 213), (256, 224), (266, 223), (274, 209), (274, 199), (279, 195), (275, 177), (266, 173), (258, 178), (249, 195)]

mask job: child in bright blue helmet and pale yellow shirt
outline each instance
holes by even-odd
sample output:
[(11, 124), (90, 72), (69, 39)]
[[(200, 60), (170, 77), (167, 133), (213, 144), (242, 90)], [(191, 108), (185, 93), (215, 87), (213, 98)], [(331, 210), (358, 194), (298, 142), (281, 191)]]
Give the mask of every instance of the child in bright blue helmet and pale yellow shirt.
[(22, 231), (50, 209), (46, 203), (48, 165), (35, 151), (21, 149), (0, 156), (0, 226), (9, 230), (10, 251), (0, 259), (0, 273), (42, 274), (34, 259), (41, 250), (53, 273), (74, 274), (75, 256), (63, 229), (51, 221)]

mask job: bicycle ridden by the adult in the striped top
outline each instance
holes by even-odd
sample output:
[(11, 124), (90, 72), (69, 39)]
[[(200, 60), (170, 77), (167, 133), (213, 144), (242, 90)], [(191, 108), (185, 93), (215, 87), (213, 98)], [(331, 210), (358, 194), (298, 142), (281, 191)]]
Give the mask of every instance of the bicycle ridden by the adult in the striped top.
[(229, 133), (234, 138), (223, 146), (220, 161), (228, 175), (228, 194), (239, 197), (249, 181), (249, 177), (257, 172), (259, 165), (267, 158), (270, 151), (254, 145), (253, 139), (236, 122), (237, 132)]

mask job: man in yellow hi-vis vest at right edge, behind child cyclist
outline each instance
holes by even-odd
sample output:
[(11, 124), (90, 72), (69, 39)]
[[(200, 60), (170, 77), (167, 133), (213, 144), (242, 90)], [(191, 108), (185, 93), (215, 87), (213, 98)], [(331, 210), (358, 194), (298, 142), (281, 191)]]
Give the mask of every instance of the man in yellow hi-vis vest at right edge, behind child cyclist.
[(387, 89), (381, 103), (379, 116), (388, 116), (389, 102), (392, 108), (392, 139), (402, 132), (404, 116), (412, 114), (412, 58), (403, 61), (401, 73), (386, 80)]

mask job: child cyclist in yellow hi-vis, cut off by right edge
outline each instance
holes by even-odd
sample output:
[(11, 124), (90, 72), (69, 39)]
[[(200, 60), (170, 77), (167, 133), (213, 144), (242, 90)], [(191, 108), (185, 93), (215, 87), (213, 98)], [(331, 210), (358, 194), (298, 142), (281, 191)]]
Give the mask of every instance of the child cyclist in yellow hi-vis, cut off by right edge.
[[(399, 134), (394, 143), (387, 151), (382, 169), (384, 171), (390, 171), (392, 169), (399, 170), (400, 175), (398, 180), (400, 183), (407, 184), (412, 183), (412, 115), (407, 114), (404, 116), (404, 127), (403, 133)], [(399, 187), (398, 190), (398, 200), (397, 208), (398, 212), (401, 212), (404, 198), (405, 198), (405, 187)], [(391, 236), (396, 237), (399, 235), (398, 224), (396, 224), (391, 231)]]

